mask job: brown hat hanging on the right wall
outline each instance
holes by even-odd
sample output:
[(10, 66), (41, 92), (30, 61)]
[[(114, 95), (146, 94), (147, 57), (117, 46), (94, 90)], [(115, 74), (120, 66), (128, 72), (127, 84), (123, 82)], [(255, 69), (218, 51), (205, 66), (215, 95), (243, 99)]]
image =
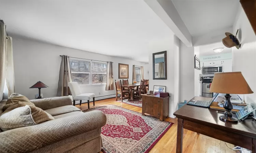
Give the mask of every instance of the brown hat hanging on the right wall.
[[(238, 32), (238, 31), (237, 31)], [(222, 39), (222, 43), (227, 47), (231, 48), (236, 46), (237, 49), (240, 48), (239, 40), (237, 39), (237, 35), (234, 36), (233, 34), (229, 32), (225, 32), (226, 37)]]

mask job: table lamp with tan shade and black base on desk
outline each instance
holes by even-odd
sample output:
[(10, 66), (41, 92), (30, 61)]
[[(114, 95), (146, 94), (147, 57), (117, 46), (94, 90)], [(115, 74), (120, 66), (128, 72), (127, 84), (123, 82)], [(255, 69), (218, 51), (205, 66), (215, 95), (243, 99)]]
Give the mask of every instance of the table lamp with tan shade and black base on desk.
[(253, 93), (241, 72), (215, 73), (209, 91), (226, 94), (226, 101), (223, 105), (225, 112), (219, 119), (229, 122), (237, 122), (237, 119), (232, 117), (231, 109), (233, 109), (233, 105), (230, 101), (231, 96), (229, 94)]

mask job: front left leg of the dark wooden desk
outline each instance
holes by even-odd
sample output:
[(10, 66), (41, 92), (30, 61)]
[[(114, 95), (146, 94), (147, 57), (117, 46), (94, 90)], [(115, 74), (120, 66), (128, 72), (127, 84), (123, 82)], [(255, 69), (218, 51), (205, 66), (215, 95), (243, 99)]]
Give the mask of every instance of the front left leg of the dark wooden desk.
[(176, 153), (182, 153), (183, 119), (178, 118)]

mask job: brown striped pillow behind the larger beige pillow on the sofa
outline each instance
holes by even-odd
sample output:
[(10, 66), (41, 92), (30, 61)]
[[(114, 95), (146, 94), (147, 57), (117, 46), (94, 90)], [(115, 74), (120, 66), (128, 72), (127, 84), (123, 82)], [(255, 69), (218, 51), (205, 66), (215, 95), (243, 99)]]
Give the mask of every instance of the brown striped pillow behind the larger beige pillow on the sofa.
[[(22, 102), (23, 105), (21, 105), (21, 103), (19, 104), (19, 102)], [(6, 105), (3, 106), (3, 111), (4, 111), (3, 113), (10, 112), (15, 108), (26, 106), (26, 105), (35, 106), (34, 103), (29, 101), (29, 99), (26, 96), (12, 93), (10, 98), (7, 100)], [(7, 110), (7, 108), (9, 109)]]

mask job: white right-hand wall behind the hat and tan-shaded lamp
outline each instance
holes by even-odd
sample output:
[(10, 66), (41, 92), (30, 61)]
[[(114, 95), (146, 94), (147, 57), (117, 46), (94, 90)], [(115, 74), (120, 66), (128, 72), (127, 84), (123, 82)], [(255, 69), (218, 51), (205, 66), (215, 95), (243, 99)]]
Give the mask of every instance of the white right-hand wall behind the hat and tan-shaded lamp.
[(233, 34), (236, 34), (241, 48), (232, 47), (232, 71), (241, 71), (254, 94), (244, 95), (245, 101), (256, 102), (256, 35), (251, 24), (239, 5), (238, 14), (233, 24)]

